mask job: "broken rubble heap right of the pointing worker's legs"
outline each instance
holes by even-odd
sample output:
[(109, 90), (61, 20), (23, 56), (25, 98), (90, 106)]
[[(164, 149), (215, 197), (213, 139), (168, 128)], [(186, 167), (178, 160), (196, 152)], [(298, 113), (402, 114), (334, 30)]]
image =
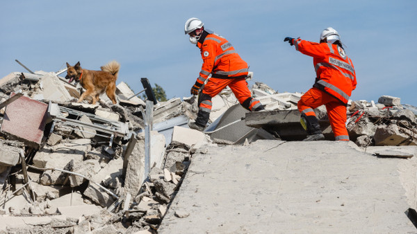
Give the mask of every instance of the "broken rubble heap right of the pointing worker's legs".
[(417, 145), (416, 107), (401, 105), (400, 98), (381, 96), (378, 103), (351, 102), (347, 130), (351, 141), (370, 145)]

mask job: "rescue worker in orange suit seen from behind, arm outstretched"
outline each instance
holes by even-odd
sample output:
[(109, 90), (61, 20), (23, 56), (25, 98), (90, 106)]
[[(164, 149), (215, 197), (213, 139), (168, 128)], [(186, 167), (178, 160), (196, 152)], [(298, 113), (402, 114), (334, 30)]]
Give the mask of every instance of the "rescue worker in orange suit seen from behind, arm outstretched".
[(323, 140), (322, 131), (313, 109), (325, 105), (336, 141), (349, 141), (345, 127), (346, 106), (352, 90), (357, 86), (352, 60), (347, 57), (341, 37), (333, 28), (326, 28), (320, 43), (286, 37), (284, 42), (297, 51), (313, 57), (316, 82), (298, 101), (301, 124), (307, 131), (304, 141)]

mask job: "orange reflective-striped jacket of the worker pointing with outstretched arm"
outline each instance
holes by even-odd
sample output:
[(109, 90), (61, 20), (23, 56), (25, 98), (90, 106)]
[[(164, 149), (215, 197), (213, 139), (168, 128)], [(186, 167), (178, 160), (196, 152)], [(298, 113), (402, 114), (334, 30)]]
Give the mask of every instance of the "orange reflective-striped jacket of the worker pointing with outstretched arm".
[(329, 93), (345, 105), (357, 86), (352, 60), (341, 46), (293, 39), (295, 49), (313, 57), (317, 79), (313, 87)]

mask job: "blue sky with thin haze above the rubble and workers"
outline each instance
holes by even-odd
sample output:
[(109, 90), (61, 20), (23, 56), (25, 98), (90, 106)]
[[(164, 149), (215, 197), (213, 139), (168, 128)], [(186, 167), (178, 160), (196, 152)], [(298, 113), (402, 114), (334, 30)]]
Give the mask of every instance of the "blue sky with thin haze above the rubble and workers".
[[(305, 92), (316, 76), (311, 57), (286, 36), (318, 42), (338, 30), (357, 72), (352, 100), (389, 95), (417, 106), (417, 1), (3, 1), (0, 78), (26, 70), (58, 71), (65, 62), (98, 70), (117, 60), (133, 91), (140, 78), (167, 98), (190, 96), (201, 69), (199, 49), (183, 33), (197, 17), (234, 48), (263, 82), (279, 92)], [(64, 73), (63, 75), (65, 75)]]

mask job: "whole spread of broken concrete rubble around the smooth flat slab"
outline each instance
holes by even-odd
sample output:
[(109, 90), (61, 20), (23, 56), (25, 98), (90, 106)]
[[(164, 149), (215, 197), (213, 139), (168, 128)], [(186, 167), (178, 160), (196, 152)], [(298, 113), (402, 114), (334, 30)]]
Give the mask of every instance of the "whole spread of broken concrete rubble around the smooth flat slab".
[[(158, 102), (147, 146), (147, 105), (129, 85), (117, 85), (117, 105), (106, 94), (96, 105), (76, 103), (82, 88), (62, 72), (15, 72), (0, 80), (0, 233), (157, 233), (194, 154), (305, 137), (297, 111), (302, 93), (256, 82), (252, 95), (266, 111), (243, 109), (224, 89), (213, 98), (204, 132), (186, 124), (197, 116), (194, 96)], [(325, 109), (315, 111), (334, 140)], [(347, 129), (358, 147), (409, 159), (416, 153), (395, 147), (417, 145), (416, 114), (391, 96), (376, 104), (350, 100)]]

